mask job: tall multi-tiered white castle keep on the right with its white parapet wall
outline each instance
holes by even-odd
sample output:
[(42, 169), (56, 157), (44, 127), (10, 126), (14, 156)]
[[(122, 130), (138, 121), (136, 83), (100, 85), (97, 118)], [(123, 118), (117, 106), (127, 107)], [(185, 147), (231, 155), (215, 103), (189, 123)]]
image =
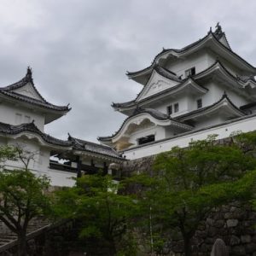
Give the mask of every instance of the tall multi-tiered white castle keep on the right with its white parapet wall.
[(163, 49), (149, 67), (128, 72), (142, 84), (130, 102), (113, 103), (127, 116), (101, 143), (138, 159), (186, 147), (191, 140), (237, 131), (256, 125), (256, 68), (237, 55), (219, 24), (204, 38), (182, 49)]

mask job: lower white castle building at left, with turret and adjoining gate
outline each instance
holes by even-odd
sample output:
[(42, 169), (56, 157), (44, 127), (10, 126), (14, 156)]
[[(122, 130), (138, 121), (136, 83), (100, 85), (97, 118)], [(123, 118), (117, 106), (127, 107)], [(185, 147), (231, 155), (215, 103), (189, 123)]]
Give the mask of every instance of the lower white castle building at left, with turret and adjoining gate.
[[(72, 186), (72, 177), (83, 173), (108, 172), (109, 165), (124, 159), (113, 148), (68, 136), (60, 140), (44, 133), (44, 125), (70, 111), (68, 106), (47, 102), (36, 89), (32, 70), (15, 84), (0, 88), (0, 145), (23, 150), (28, 167), (38, 175), (47, 175), (53, 186)], [(57, 156), (66, 161), (51, 160)], [(8, 160), (4, 168), (22, 168), (20, 160)]]

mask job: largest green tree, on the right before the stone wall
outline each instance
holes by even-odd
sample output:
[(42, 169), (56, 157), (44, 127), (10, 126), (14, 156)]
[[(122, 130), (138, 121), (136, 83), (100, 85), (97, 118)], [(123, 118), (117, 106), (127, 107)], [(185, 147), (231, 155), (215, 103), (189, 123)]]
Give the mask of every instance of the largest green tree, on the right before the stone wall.
[(191, 238), (213, 207), (253, 198), (255, 158), (235, 143), (220, 144), (214, 139), (208, 137), (190, 143), (188, 148), (176, 147), (159, 154), (155, 172), (148, 177), (151, 182), (143, 184), (143, 196), (138, 194), (145, 215), (150, 210), (150, 229), (155, 224), (162, 234), (165, 227), (177, 230), (187, 256), (191, 255)]

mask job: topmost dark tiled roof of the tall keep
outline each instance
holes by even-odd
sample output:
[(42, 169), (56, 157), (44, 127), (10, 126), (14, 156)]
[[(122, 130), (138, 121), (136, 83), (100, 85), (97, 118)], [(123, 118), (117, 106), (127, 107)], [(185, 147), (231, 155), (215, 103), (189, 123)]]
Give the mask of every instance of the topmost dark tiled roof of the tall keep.
[[(130, 75), (132, 76), (132, 75), (136, 75), (136, 74), (138, 74), (138, 73), (142, 73), (142, 72), (147, 71), (147, 70), (149, 71), (152, 67), (154, 67), (155, 61), (156, 61), (156, 59), (157, 59), (160, 55), (163, 55), (163, 54), (165, 54), (166, 52), (175, 52), (175, 53), (177, 53), (177, 54), (178, 54), (178, 53), (183, 53), (184, 51), (193, 48), (193, 47), (196, 46), (197, 44), (200, 44), (200, 43), (201, 43), (203, 40), (205, 40), (209, 35), (212, 35), (213, 38), (215, 38), (215, 39), (217, 40), (217, 42), (219, 43), (219, 45), (220, 45), (221, 47), (223, 47), (224, 49), (227, 49), (228, 51), (230, 51), (230, 53), (231, 53), (232, 55), (235, 55), (240, 61), (246, 63), (247, 66), (252, 67), (252, 68), (255, 70), (255, 67), (253, 67), (250, 63), (248, 63), (247, 61), (245, 61), (244, 59), (242, 59), (241, 56), (237, 55), (234, 51), (232, 51), (232, 49), (230, 48), (230, 44), (229, 44), (228, 40), (226, 39), (225, 33), (222, 32), (222, 31), (218, 32), (218, 28), (217, 28), (217, 29), (215, 30), (215, 32), (212, 32), (212, 31), (208, 32), (207, 35), (206, 35), (204, 38), (201, 38), (201, 39), (195, 41), (194, 43), (189, 44), (189, 45), (183, 47), (182, 49), (163, 49), (158, 55), (156, 55), (156, 56), (154, 57), (154, 60), (152, 61), (152, 64), (151, 64), (150, 66), (148, 66), (148, 67), (146, 67), (146, 68), (143, 68), (142, 70), (139, 70), (139, 71), (136, 71), (136, 72), (127, 72), (126, 74), (127, 74), (128, 76), (130, 76)], [(227, 42), (227, 44), (228, 44), (228, 47), (219, 42), (219, 39), (222, 38), (223, 36), (224, 36), (224, 38), (226, 39), (226, 42)], [(175, 55), (173, 55), (173, 56), (175, 56)]]

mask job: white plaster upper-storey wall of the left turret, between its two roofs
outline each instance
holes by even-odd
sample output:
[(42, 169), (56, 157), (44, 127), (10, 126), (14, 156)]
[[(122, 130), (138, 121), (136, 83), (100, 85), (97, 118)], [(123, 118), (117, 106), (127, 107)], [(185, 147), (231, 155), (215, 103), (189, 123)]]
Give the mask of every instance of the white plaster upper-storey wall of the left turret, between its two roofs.
[(34, 120), (38, 129), (44, 131), (44, 114), (33, 111), (32, 109), (15, 106), (8, 102), (2, 102), (0, 106), (0, 122), (10, 125), (20, 125), (30, 123)]

